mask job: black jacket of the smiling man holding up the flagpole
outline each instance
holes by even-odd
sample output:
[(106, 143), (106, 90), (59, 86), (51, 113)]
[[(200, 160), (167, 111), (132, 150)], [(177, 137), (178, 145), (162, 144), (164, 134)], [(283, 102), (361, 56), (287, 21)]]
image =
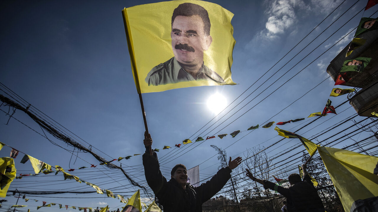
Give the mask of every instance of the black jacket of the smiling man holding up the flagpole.
[(153, 156), (148, 151), (143, 154), (144, 174), (148, 185), (159, 199), (164, 212), (202, 212), (202, 203), (217, 194), (230, 179), (231, 169), (220, 169), (211, 180), (193, 187), (189, 183), (186, 189), (175, 179), (167, 179), (161, 174), (156, 152)]

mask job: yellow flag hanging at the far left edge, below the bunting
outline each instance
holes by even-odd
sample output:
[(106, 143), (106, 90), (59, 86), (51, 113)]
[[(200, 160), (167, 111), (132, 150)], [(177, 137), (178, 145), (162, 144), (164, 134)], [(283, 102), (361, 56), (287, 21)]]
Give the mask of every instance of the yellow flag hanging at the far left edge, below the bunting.
[(11, 182), (16, 177), (13, 158), (0, 158), (0, 197), (5, 197)]

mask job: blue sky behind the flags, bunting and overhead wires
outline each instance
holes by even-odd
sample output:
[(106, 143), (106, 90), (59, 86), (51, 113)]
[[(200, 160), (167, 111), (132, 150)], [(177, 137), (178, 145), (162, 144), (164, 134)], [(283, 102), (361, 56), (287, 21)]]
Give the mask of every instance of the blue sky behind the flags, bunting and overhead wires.
[[(186, 138), (194, 141), (198, 136), (230, 134), (236, 130), (245, 131), (252, 125), (260, 124), (262, 126), (268, 121), (279, 122), (306, 118), (313, 112), (322, 111), (328, 98), (332, 98), (333, 106), (337, 106), (346, 100), (346, 95), (336, 98), (329, 97), (334, 82), (329, 78), (323, 83), (321, 81), (329, 76), (326, 72), (329, 62), (352, 40), (354, 32), (347, 35), (344, 40), (329, 51), (325, 51), (356, 27), (360, 18), (363, 17), (363, 13), (360, 12), (328, 40), (322, 42), (347, 22), (350, 17), (360, 11), (366, 5), (366, 1), (356, 3), (290, 62), (288, 61), (294, 55), (352, 6), (355, 1), (346, 0), (316, 29), (314, 27), (340, 5), (341, 0), (211, 2), (221, 5), (235, 14), (231, 22), (236, 40), (231, 71), (232, 80), (238, 84), (235, 86), (202, 86), (143, 94), (149, 131), (153, 138), (153, 148), (163, 149), (164, 145), (174, 146), (182, 143)], [(0, 34), (2, 49), (0, 52), (2, 64), (0, 82), (30, 103), (34, 107), (34, 111), (38, 109), (51, 117), (71, 131), (72, 133), (68, 133), (72, 138), (87, 147), (91, 145), (94, 151), (107, 160), (143, 153), (144, 124), (132, 77), (121, 10), (124, 7), (144, 3), (153, 3), (153, 1), (139, 1), (138, 3), (132, 1), (3, 2), (2, 12), (0, 13), (0, 20), (2, 20), (0, 22), (2, 28)], [(367, 10), (364, 17), (369, 17), (376, 9), (375, 6)], [(225, 118), (230, 116), (231, 118), (223, 124), (220, 123), (225, 118), (216, 117), (214, 121), (220, 120), (220, 122), (217, 122), (202, 134), (200, 132), (204, 130), (195, 133), (215, 117), (215, 114), (206, 106), (206, 101), (212, 94), (221, 93), (228, 103), (231, 103), (312, 29), (314, 31), (302, 43), (236, 101), (236, 103), (239, 103), (248, 94), (256, 90), (235, 109), (239, 110), (248, 101), (256, 97), (251, 103), (233, 116), (231, 114), (236, 112), (235, 109), (226, 114)], [(319, 48), (298, 63), (318, 45), (320, 45)], [(325, 54), (311, 63), (323, 52)], [(288, 64), (280, 69), (287, 62)], [(305, 68), (309, 63), (311, 65)], [(293, 69), (278, 79), (293, 66)], [(276, 75), (257, 89), (279, 69), (280, 71)], [(301, 69), (304, 70), (301, 71)], [(293, 77), (299, 71), (301, 72)], [(288, 83), (271, 94), (291, 77), (293, 78)], [(321, 84), (314, 88), (319, 83)], [(270, 86), (270, 84), (272, 85)], [(312, 88), (314, 89), (311, 92), (293, 103)], [(263, 93), (257, 96), (260, 92)], [(1, 91), (1, 94), (9, 97), (4, 91)], [(259, 103), (268, 95), (268, 98)], [(280, 112), (291, 103), (293, 103), (291, 106)], [(236, 104), (234, 103), (231, 106), (234, 105)], [(253, 106), (253, 109), (246, 112)], [(2, 106), (1, 109), (8, 111), (5, 106)], [(228, 111), (229, 109), (226, 109), (226, 112)], [(346, 117), (355, 114), (355, 110), (349, 103), (340, 106), (336, 112), (338, 112), (338, 115), (330, 114), (322, 117), (297, 133), (311, 138), (323, 130), (332, 128)], [(5, 123), (7, 123), (9, 116), (3, 112), (1, 114), (3, 114), (0, 116), (0, 123), (2, 123), (0, 128), (1, 142), (48, 164), (62, 166), (66, 170), (99, 163), (88, 153), (80, 152), (77, 158), (76, 153), (72, 155), (71, 152), (55, 146), (46, 138), (18, 122), (17, 120), (23, 122), (43, 135), (40, 127), (22, 111), (16, 111), (13, 117), (17, 120), (11, 118), (8, 125), (5, 125)], [(277, 115), (271, 118), (275, 114)], [(363, 118), (356, 117), (355, 120), (359, 121)], [(286, 124), (280, 128), (295, 131), (313, 119), (306, 118), (304, 121)], [(233, 122), (231, 123), (231, 121)], [(322, 123), (323, 121), (325, 122)], [(348, 121), (339, 128), (330, 130), (330, 132), (319, 137), (319, 141), (352, 124), (352, 121)], [(216, 126), (218, 127), (215, 128)], [(160, 163), (164, 167), (163, 174), (169, 178), (170, 169), (177, 163), (185, 164), (188, 169), (201, 164), (200, 177), (201, 179), (207, 178), (209, 175), (215, 174), (218, 167), (217, 157), (212, 157), (216, 154), (216, 151), (210, 147), (211, 144), (224, 149), (238, 140), (226, 149), (227, 154), (232, 157), (239, 155), (244, 157), (243, 151), (246, 151), (246, 149), (258, 145), (260, 147), (270, 146), (280, 140), (281, 137), (277, 137), (277, 132), (273, 128), (274, 126), (268, 129), (257, 129), (253, 132), (241, 132), (235, 138), (230, 136), (222, 140), (214, 138), (201, 143), (181, 146), (180, 149), (173, 147), (170, 150), (162, 150), (158, 152), (158, 157), (161, 158)], [(352, 127), (343, 133), (355, 129), (357, 128)], [(47, 133), (46, 135), (54, 143), (70, 151), (73, 150), (73, 147), (67, 146), (63, 141), (57, 140)], [(190, 137), (191, 135), (193, 136)], [(367, 136), (368, 134), (361, 133), (356, 135), (354, 139), (358, 140)], [(284, 140), (268, 149), (267, 154), (274, 157), (298, 142), (294, 139)], [(335, 147), (341, 148), (351, 142), (346, 140)], [(298, 148), (295, 153), (302, 150)], [(10, 148), (4, 147), (0, 154), (2, 157), (9, 157), (9, 152)], [(292, 154), (283, 155), (277, 161), (290, 155)], [(15, 159), (17, 175), (32, 172), (29, 162), (20, 164), (22, 157), (23, 154), (20, 153)], [(122, 167), (135, 181), (147, 186), (141, 165), (141, 155), (121, 162)], [(115, 162), (115, 164), (120, 165), (119, 162)], [(299, 161), (288, 165), (290, 165), (289, 168), (292, 168), (298, 164), (300, 164)], [(98, 167), (99, 169), (97, 169)], [(125, 197), (131, 197), (133, 192), (138, 189), (130, 186), (129, 181), (122, 177), (120, 171), (98, 167), (75, 170), (71, 174), (94, 184), (108, 183), (100, 186), (104, 189), (121, 186), (118, 188), (119, 190), (115, 190), (115, 193), (125, 195)], [(280, 175), (280, 168), (274, 169), (272, 172), (280, 177), (287, 177), (287, 174)], [(85, 184), (83, 185), (83, 183), (79, 184), (73, 180), (64, 181), (61, 174), (15, 179), (10, 190), (16, 188), (18, 190), (45, 191), (76, 190), (79, 186), (84, 191), (94, 190)], [(42, 205), (42, 201), (94, 208), (109, 204), (111, 210), (124, 206), (124, 204), (119, 203), (119, 200), (105, 198), (106, 196), (101, 194), (26, 196), (29, 199), (40, 200), (39, 202), (29, 201), (27, 203), (23, 200), (19, 201), (19, 204), (29, 205), (31, 211), (35, 211), (36, 206)], [(143, 195), (143, 197), (146, 196)], [(6, 197), (6, 200), (8, 202), (3, 206), (15, 204), (16, 198)], [(20, 209), (20, 211), (23, 210), (26, 209)], [(57, 211), (59, 208), (52, 207), (51, 210)], [(42, 208), (39, 211), (47, 210)], [(71, 209), (71, 211), (73, 210)]]

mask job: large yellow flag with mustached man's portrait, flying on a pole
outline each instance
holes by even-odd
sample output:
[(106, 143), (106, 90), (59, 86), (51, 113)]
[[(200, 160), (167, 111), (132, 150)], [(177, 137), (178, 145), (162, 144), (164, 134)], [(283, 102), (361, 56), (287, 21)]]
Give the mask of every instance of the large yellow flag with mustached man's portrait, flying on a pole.
[(139, 94), (235, 84), (230, 11), (210, 2), (183, 0), (133, 6), (122, 15)]

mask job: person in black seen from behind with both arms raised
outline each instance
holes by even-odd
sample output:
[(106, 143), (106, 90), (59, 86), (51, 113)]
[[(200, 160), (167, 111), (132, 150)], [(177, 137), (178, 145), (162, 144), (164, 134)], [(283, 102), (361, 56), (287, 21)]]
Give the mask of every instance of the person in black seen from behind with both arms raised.
[(324, 206), (316, 191), (313, 183), (311, 182), (310, 175), (306, 171), (306, 165), (302, 165), (303, 181), (299, 174), (289, 175), (288, 181), (291, 187), (284, 188), (268, 180), (260, 180), (252, 175), (246, 169), (246, 176), (251, 180), (256, 181), (264, 186), (265, 189), (272, 189), (282, 194), (287, 199), (288, 212), (324, 212)]

